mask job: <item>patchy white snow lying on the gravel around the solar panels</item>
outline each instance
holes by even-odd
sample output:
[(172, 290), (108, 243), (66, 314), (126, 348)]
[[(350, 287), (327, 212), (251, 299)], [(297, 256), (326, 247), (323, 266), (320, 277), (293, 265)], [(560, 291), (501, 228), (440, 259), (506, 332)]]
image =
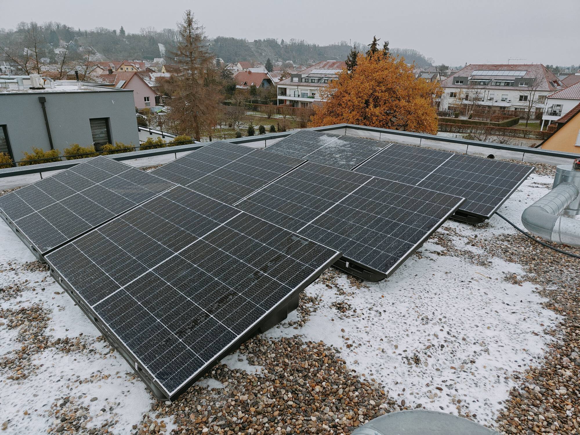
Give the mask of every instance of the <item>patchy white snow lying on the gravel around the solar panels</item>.
[[(521, 226), (523, 209), (551, 182), (532, 174), (501, 212)], [(385, 385), (397, 403), (494, 425), (508, 390), (516, 385), (514, 375), (541, 364), (548, 340), (554, 339), (542, 331), (559, 321), (542, 307), (545, 301), (530, 283), (503, 279), (522, 274), (519, 266), (469, 242), (476, 235), (485, 240), (514, 232), (497, 216), (481, 226), (449, 221), (387, 280), (356, 285), (345, 274), (326, 274), (306, 289), (321, 299), (310, 320), (298, 329), (273, 328), (266, 336), (322, 340), (339, 347), (350, 368)], [(132, 432), (150, 412), (153, 396), (122, 357), (97, 339), (100, 333), (48, 271), (23, 266), (34, 257), (3, 222), (0, 241), (5, 317), (0, 318), (0, 360), (14, 358), (37, 339), (27, 329), (29, 320), (16, 327), (9, 323), (13, 310), (36, 306), (49, 318), (41, 331), (49, 344), (24, 358), (20, 371), (26, 379), (14, 379), (19, 376), (14, 364), (0, 364), (3, 433), (46, 433), (60, 425), (55, 409), (68, 407), (84, 410), (86, 427), (106, 424), (114, 433)], [(297, 313), (291, 320), (301, 321)], [(55, 344), (59, 338), (73, 345)], [(231, 368), (255, 368), (238, 356), (224, 362)], [(165, 423), (171, 432), (172, 422)]]

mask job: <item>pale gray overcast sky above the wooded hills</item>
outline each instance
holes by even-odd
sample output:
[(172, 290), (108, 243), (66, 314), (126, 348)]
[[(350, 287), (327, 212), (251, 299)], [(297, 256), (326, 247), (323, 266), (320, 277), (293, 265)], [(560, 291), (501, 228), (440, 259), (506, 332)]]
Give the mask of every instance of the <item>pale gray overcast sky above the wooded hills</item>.
[(191, 9), (209, 37), (306, 39), (319, 45), (373, 35), (437, 64), (580, 63), (580, 0), (2, 1), (0, 28), (59, 21), (81, 29), (175, 27)]

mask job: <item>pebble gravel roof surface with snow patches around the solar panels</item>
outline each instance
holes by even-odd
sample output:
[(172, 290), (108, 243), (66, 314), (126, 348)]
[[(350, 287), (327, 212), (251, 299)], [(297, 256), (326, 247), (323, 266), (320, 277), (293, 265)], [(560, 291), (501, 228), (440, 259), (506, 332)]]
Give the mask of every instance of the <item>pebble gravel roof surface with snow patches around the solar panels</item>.
[[(542, 173), (502, 206), (516, 224), (550, 189)], [(0, 241), (2, 433), (338, 434), (414, 408), (502, 433), (578, 425), (578, 260), (497, 216), (448, 221), (379, 283), (328, 270), (285, 322), (173, 403), (155, 400), (3, 222)]]

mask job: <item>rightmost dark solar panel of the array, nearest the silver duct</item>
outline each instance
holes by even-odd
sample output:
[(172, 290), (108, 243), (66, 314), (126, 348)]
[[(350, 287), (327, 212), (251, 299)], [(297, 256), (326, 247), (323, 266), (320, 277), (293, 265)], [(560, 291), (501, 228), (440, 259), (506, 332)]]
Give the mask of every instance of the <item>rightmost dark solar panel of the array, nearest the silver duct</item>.
[(452, 217), (479, 223), (491, 218), (534, 167), (391, 144), (354, 171), (465, 197)]

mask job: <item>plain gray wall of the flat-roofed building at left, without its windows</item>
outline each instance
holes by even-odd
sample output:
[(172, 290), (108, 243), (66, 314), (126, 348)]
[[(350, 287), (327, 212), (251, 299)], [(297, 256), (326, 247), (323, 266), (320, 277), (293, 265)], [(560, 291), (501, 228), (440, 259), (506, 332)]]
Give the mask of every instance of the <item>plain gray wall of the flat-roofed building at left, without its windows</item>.
[(52, 142), (61, 153), (70, 144), (93, 143), (90, 118), (109, 118), (111, 141), (139, 145), (132, 90), (73, 92), (10, 92), (0, 90), (0, 125), (6, 124), (15, 161), (32, 147), (50, 150), (38, 97), (46, 97), (46, 115)]

